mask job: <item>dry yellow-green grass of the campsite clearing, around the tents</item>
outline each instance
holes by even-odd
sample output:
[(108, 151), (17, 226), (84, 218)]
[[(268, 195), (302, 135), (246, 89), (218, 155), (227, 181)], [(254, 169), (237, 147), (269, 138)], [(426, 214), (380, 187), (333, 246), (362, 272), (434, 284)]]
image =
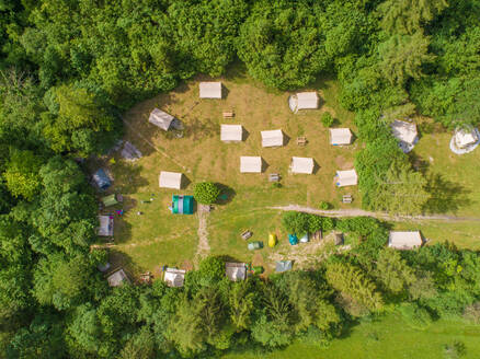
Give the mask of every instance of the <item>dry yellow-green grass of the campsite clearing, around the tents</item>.
[[(161, 266), (191, 268), (199, 259), (198, 216), (173, 216), (168, 207), (172, 194), (192, 194), (193, 183), (213, 181), (222, 186), (219, 204), (207, 219), (207, 238), (212, 254), (226, 255), (238, 260), (252, 262), (272, 269), (282, 258), (302, 259), (304, 264), (321, 251), (315, 243), (290, 247), (279, 223), (281, 212), (266, 209), (271, 206), (298, 204), (318, 207), (329, 201), (335, 208), (359, 208), (356, 187), (339, 189), (333, 176), (336, 170), (353, 166), (354, 153), (362, 148), (356, 139), (353, 146), (338, 148), (329, 144), (329, 131), (320, 123), (322, 112), (329, 111), (336, 118), (336, 127), (353, 125), (354, 115), (338, 103), (338, 85), (334, 80), (319, 80), (310, 89), (319, 91), (320, 109), (292, 114), (288, 93), (271, 91), (249, 78), (242, 68), (233, 68), (222, 81), (226, 99), (199, 100), (196, 78), (170, 93), (141, 102), (124, 114), (125, 140), (134, 143), (144, 157), (136, 162), (122, 160), (114, 153), (115, 163), (108, 163), (115, 182), (114, 190), (125, 198), (125, 212), (115, 218), (114, 265), (122, 265), (132, 274), (150, 270), (159, 274)], [(162, 108), (180, 118), (185, 130), (178, 138), (148, 124), (155, 107)], [(222, 119), (224, 111), (235, 111), (233, 119)], [(220, 124), (241, 124), (248, 131), (241, 143), (224, 143), (219, 140)], [(288, 136), (287, 144), (278, 149), (261, 147), (261, 130), (282, 128)], [(431, 125), (420, 126), (421, 139), (412, 152), (418, 167), (433, 176), (437, 192), (431, 201), (432, 210), (458, 216), (477, 216), (479, 208), (480, 171), (471, 163), (480, 160), (480, 150), (464, 157), (448, 149), (450, 132)], [(298, 147), (296, 138), (306, 136), (308, 144)], [(266, 162), (262, 174), (241, 174), (240, 155), (261, 155)], [(313, 175), (288, 173), (290, 158), (311, 157), (318, 167)], [(160, 189), (160, 171), (182, 172), (190, 184), (182, 189)], [(267, 181), (268, 173), (279, 173), (282, 187), (274, 188)], [(343, 194), (352, 194), (352, 205), (341, 204)], [(152, 200), (150, 200), (152, 199)], [(141, 215), (137, 215), (141, 212)], [(403, 222), (399, 229), (421, 229), (432, 242), (450, 240), (461, 246), (479, 248), (480, 221), (470, 222)], [(256, 253), (247, 250), (240, 238), (243, 230), (253, 232), (252, 241), (263, 241), (267, 235), (278, 235), (279, 245), (265, 247)], [(301, 265), (301, 260), (298, 260)]]

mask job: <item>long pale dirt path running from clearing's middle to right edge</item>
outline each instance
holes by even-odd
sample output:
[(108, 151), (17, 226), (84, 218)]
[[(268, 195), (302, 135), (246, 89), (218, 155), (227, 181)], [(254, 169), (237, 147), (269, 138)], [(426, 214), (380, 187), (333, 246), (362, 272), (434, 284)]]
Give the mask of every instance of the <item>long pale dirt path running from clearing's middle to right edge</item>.
[(385, 219), (390, 221), (409, 221), (409, 220), (439, 220), (446, 222), (461, 222), (461, 221), (480, 221), (480, 218), (472, 217), (456, 217), (456, 216), (444, 216), (444, 215), (432, 215), (432, 216), (390, 216), (386, 212), (370, 212), (363, 209), (317, 209), (311, 207), (304, 207), (299, 205), (288, 205), (279, 207), (267, 207), (268, 209), (279, 209), (279, 210), (294, 210), (298, 212), (306, 212), (312, 215), (321, 215), (325, 217), (374, 217), (378, 219)]

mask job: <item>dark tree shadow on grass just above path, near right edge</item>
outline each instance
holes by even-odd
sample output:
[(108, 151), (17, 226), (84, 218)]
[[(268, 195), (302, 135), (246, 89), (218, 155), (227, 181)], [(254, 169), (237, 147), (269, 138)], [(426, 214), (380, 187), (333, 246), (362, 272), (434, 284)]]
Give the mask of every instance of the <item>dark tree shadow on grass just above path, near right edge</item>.
[(472, 204), (468, 198), (470, 190), (460, 184), (444, 178), (441, 174), (432, 174), (428, 178), (426, 190), (431, 198), (423, 207), (425, 212), (445, 213), (456, 212), (458, 209)]

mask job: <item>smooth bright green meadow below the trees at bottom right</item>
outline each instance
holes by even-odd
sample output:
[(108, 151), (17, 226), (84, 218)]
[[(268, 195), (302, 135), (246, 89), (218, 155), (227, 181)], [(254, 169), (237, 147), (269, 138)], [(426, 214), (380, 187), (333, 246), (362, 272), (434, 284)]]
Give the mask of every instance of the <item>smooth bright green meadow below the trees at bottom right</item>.
[(343, 338), (335, 339), (327, 349), (301, 343), (271, 352), (242, 351), (222, 359), (439, 359), (444, 346), (454, 340), (465, 344), (467, 355), (480, 355), (480, 326), (461, 321), (438, 321), (425, 331), (412, 329), (395, 314), (378, 322), (354, 326)]

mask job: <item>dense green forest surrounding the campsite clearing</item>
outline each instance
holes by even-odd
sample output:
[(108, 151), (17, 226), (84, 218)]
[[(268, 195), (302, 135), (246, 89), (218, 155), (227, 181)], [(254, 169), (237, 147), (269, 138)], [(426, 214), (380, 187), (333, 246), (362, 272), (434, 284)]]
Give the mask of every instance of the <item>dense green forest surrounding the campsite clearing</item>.
[(98, 205), (80, 161), (122, 136), (123, 111), (197, 73), (242, 63), (281, 90), (334, 76), (366, 142), (355, 162), (364, 206), (435, 210), (387, 124), (415, 114), (447, 128), (480, 121), (478, 1), (1, 0), (0, 30), (0, 357), (328, 345), (358, 317), (395, 309), (416, 327), (479, 321), (477, 253), (393, 252), (386, 225), (366, 218), (286, 215), (297, 231), (339, 228), (359, 240), (311, 271), (229, 282), (210, 257), (182, 289), (112, 290), (96, 269), (106, 254), (90, 252)]

